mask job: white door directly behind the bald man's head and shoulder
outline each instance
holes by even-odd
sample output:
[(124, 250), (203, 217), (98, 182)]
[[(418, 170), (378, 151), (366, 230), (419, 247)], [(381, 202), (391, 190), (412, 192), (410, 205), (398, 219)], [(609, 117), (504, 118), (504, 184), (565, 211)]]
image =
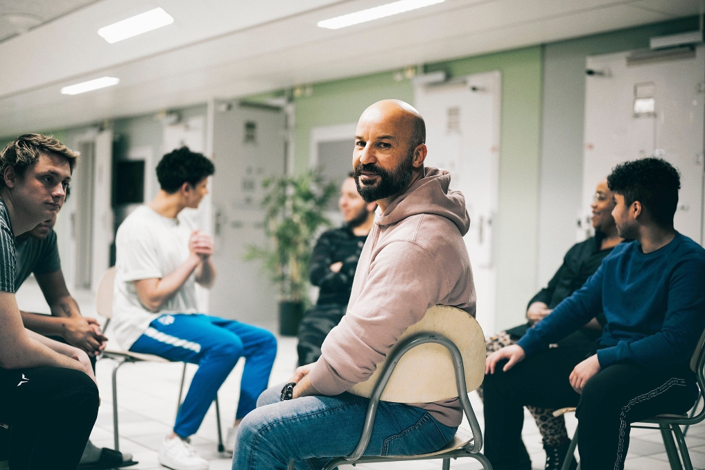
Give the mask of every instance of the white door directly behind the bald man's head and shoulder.
[(496, 268), (492, 223), (498, 205), (501, 74), (480, 73), (415, 90), (415, 105), (426, 121), (427, 166), (450, 171), (450, 187), (465, 195), (477, 321), (495, 330)]

